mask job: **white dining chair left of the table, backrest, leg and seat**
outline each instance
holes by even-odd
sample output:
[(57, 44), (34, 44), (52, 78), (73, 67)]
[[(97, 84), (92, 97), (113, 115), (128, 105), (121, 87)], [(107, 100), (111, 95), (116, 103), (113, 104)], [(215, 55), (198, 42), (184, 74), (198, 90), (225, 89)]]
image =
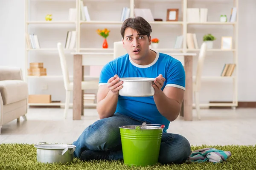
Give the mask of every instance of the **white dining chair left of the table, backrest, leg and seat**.
[[(67, 111), (70, 105), (70, 92), (73, 91), (73, 82), (70, 82), (70, 79), (69, 79), (69, 72), (67, 69), (66, 57), (64, 55), (64, 48), (62, 47), (60, 42), (57, 43), (57, 48), (58, 48), (58, 54), (61, 62), (61, 71), (64, 79), (64, 87), (66, 90), (66, 99), (65, 99), (65, 108), (64, 108), (64, 119), (66, 119)], [(83, 81), (81, 83), (82, 83), (81, 90), (97, 89), (99, 85), (99, 80)]]

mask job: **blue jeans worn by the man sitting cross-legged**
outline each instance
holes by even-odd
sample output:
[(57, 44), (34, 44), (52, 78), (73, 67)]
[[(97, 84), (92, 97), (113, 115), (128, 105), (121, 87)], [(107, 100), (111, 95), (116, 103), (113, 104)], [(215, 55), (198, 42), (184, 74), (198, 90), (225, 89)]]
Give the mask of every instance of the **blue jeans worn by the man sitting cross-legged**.
[[(143, 122), (115, 113), (112, 117), (100, 119), (88, 126), (79, 138), (73, 142), (76, 146), (74, 157), (80, 158), (84, 150), (110, 151), (109, 159), (123, 159), (119, 126), (142, 125)], [(151, 122), (146, 122), (151, 123)], [(189, 141), (173, 133), (163, 133), (158, 161), (161, 164), (181, 164), (189, 157)]]

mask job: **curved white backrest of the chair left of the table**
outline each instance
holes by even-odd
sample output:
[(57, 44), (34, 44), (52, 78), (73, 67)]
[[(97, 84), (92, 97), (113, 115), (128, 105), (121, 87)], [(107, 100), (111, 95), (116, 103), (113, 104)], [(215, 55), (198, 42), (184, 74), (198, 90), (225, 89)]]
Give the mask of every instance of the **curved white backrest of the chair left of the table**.
[(61, 45), (61, 42), (58, 42), (57, 48), (58, 48), (58, 54), (59, 54), (60, 61), (61, 61), (61, 71), (62, 71), (63, 79), (64, 79), (64, 87), (67, 90), (68, 85), (70, 84), (70, 79), (69, 79), (69, 74), (68, 74), (68, 69), (67, 69), (67, 62), (66, 62), (66, 58), (64, 55), (64, 49)]

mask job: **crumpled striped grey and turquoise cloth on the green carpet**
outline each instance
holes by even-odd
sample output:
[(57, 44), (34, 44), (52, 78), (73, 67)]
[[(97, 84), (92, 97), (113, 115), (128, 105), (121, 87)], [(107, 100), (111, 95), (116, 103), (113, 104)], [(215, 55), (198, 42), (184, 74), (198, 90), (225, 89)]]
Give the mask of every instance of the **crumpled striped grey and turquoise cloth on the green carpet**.
[(212, 147), (207, 147), (193, 151), (189, 158), (186, 160), (186, 163), (205, 161), (220, 163), (227, 160), (230, 156), (230, 151), (223, 151)]

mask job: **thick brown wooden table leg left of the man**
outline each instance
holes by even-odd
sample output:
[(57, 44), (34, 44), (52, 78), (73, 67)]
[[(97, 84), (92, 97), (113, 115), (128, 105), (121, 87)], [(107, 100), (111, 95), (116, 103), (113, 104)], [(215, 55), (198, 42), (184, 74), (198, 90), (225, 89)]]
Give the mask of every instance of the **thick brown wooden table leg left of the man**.
[(74, 55), (73, 62), (73, 120), (81, 120), (82, 113), (82, 55)]

